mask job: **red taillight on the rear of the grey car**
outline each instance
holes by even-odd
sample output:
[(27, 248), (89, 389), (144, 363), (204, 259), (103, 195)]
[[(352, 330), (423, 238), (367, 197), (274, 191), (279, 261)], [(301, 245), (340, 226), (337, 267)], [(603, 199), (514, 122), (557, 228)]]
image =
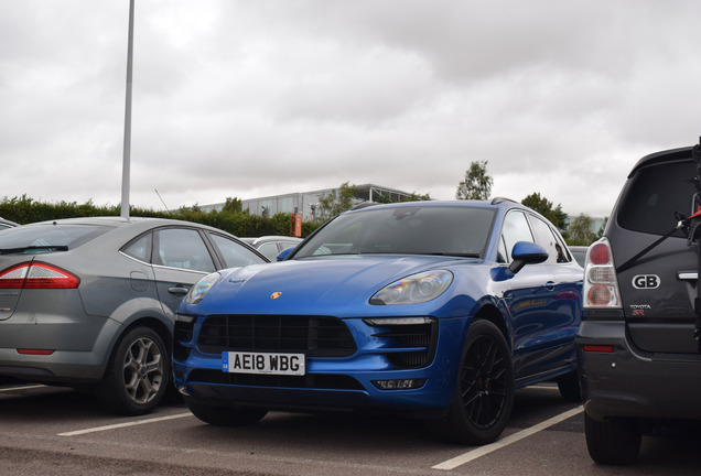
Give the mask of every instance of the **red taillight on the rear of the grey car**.
[(25, 262), (0, 271), (0, 289), (75, 289), (80, 279), (43, 262)]

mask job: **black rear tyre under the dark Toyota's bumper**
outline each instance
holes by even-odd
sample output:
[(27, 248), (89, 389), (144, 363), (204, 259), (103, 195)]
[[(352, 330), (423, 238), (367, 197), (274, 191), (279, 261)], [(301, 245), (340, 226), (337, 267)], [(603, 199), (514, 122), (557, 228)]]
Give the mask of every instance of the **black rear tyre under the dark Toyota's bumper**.
[(641, 433), (635, 421), (600, 422), (584, 413), (584, 433), (589, 455), (598, 464), (627, 465), (638, 458)]

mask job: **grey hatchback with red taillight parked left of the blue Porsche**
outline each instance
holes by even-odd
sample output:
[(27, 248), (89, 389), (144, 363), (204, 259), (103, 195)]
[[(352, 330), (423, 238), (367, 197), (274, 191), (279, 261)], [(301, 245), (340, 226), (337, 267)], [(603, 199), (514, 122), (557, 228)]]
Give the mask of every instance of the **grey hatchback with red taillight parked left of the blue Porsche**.
[(88, 388), (122, 414), (152, 410), (171, 376), (174, 312), (202, 277), (266, 263), (215, 228), (74, 218), (0, 234), (0, 375)]

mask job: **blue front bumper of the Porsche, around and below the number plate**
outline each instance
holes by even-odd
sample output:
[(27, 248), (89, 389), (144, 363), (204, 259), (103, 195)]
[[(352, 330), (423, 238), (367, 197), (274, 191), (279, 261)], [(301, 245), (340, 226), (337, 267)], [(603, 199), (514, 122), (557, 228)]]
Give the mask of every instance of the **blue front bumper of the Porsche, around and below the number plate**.
[[(370, 338), (363, 320), (346, 320), (358, 345), (347, 357), (308, 357), (306, 375), (295, 379), (251, 376), (222, 370), (222, 356), (204, 354), (182, 340), (173, 361), (181, 392), (213, 404), (255, 405), (277, 410), (396, 411), (435, 416), (450, 405), (457, 379), (457, 363), (468, 318), (442, 320), (431, 361), (420, 368), (398, 369), (387, 358), (387, 347)], [(195, 325), (195, 331), (198, 326)], [(179, 328), (176, 325), (176, 339)], [(183, 346), (186, 344), (185, 346)], [(187, 351), (182, 351), (187, 347)], [(380, 389), (378, 380), (420, 381), (418, 388)]]

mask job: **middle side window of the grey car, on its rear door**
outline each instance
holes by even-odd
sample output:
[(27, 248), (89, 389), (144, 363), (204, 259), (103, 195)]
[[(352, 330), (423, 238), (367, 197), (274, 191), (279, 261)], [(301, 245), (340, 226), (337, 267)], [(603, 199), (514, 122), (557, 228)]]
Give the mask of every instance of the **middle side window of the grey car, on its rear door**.
[(212, 256), (197, 230), (164, 228), (158, 230), (155, 235), (160, 264), (186, 270), (215, 271)]

